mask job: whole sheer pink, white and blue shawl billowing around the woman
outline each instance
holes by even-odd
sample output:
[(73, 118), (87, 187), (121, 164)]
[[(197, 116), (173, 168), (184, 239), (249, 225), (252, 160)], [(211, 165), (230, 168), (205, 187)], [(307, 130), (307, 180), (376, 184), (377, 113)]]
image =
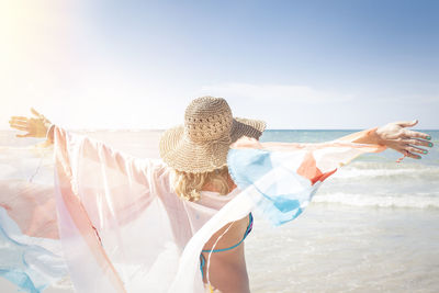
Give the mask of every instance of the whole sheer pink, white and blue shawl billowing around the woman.
[(324, 144), (243, 138), (228, 154), (238, 188), (188, 202), (160, 160), (54, 133), (53, 148), (0, 151), (0, 274), (27, 292), (65, 278), (77, 292), (205, 292), (200, 252), (219, 228), (255, 210), (290, 222), (338, 167), (385, 149), (352, 143), (367, 131)]

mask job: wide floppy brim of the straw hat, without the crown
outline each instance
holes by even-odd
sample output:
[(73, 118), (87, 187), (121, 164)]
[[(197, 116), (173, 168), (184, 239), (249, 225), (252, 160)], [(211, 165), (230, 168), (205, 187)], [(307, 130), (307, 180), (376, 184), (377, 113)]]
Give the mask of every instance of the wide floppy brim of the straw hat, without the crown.
[(227, 166), (232, 143), (243, 136), (259, 138), (266, 123), (259, 120), (235, 117), (230, 139), (195, 143), (184, 135), (183, 125), (167, 129), (160, 138), (160, 157), (171, 168), (190, 173), (210, 172)]

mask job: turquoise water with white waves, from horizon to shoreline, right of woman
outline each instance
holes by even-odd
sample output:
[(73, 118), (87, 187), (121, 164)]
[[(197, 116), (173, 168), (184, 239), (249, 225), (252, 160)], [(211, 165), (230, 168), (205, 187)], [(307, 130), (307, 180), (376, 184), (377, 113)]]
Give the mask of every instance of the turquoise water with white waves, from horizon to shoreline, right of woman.
[[(341, 168), (317, 193), (316, 202), (356, 206), (439, 209), (439, 131), (423, 159), (406, 158), (393, 149), (365, 154)], [(322, 143), (356, 131), (267, 131), (262, 142)]]

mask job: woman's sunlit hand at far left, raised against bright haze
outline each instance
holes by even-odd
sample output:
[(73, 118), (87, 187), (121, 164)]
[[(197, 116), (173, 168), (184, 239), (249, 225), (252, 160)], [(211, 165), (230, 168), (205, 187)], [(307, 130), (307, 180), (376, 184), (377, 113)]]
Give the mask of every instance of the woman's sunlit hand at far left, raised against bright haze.
[(26, 134), (18, 134), (16, 137), (46, 137), (47, 131), (52, 125), (50, 121), (33, 108), (31, 108), (31, 112), (36, 117), (12, 116), (9, 121), (9, 126), (27, 132)]

